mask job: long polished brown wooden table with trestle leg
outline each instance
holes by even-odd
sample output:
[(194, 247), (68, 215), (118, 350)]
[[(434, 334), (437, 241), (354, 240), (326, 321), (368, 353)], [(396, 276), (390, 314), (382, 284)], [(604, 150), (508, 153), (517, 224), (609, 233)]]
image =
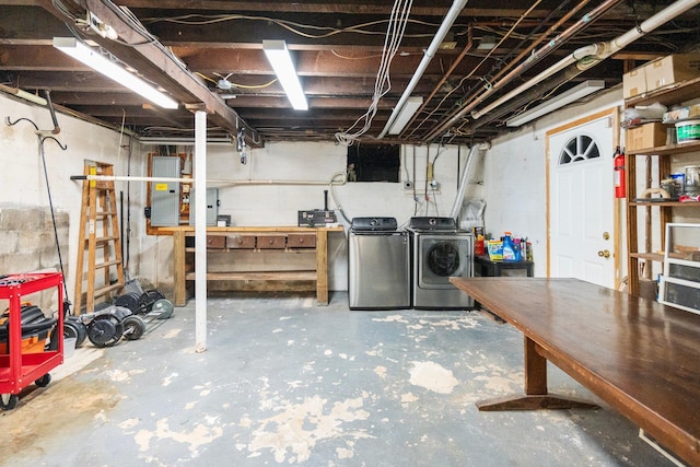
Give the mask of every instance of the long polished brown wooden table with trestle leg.
[(549, 360), (700, 466), (700, 315), (576, 279), (451, 278), (525, 337), (525, 394), (480, 410), (576, 407), (547, 392)]

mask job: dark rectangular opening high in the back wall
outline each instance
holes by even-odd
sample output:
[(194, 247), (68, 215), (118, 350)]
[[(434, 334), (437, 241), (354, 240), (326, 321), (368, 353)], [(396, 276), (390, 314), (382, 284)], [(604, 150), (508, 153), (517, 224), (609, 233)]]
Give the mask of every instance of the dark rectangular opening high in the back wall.
[(348, 147), (348, 182), (398, 183), (400, 144)]

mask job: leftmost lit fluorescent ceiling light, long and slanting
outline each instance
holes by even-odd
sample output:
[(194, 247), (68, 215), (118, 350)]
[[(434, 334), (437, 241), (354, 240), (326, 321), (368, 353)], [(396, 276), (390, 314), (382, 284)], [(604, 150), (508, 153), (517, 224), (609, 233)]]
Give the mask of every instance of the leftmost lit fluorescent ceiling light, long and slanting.
[(74, 37), (54, 37), (54, 47), (148, 98), (153, 104), (163, 108), (177, 108), (177, 102), (173, 98)]

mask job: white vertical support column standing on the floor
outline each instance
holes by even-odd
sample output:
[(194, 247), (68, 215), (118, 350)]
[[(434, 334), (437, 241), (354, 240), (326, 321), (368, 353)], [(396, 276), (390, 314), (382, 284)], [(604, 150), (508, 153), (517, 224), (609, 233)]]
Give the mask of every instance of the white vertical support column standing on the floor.
[(195, 351), (207, 350), (207, 113), (195, 112)]

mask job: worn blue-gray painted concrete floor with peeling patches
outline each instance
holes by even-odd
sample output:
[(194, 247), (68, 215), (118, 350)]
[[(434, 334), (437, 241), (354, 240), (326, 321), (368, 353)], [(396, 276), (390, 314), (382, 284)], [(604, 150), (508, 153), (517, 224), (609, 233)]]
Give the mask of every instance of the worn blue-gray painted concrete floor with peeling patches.
[[(2, 466), (663, 466), (607, 408), (479, 412), (521, 393), (522, 335), (481, 312), (350, 312), (347, 294), (195, 302), (90, 341), (0, 413)], [(552, 393), (597, 399), (549, 366)]]

